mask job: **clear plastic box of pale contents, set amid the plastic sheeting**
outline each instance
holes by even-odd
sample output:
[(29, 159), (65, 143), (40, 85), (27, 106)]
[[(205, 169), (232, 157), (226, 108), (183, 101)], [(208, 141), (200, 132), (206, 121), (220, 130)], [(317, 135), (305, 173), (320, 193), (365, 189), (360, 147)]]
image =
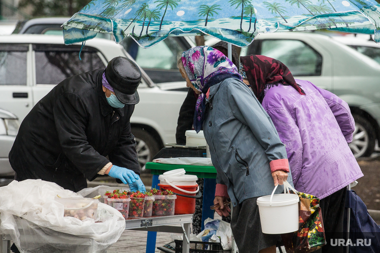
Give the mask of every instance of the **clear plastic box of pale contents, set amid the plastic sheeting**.
[(64, 213), (63, 216), (74, 217), (83, 221), (86, 218), (96, 219), (97, 204), (99, 200), (89, 198), (58, 198), (54, 200), (60, 204), (63, 204)]

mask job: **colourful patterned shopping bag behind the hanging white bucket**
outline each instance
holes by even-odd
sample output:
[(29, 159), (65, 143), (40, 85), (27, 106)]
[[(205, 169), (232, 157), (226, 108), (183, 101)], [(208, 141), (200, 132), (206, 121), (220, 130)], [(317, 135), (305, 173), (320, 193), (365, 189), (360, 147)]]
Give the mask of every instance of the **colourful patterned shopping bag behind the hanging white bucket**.
[(295, 194), (299, 196), (299, 228), (294, 233), (281, 235), (286, 253), (316, 251), (326, 244), (319, 199), (297, 191)]

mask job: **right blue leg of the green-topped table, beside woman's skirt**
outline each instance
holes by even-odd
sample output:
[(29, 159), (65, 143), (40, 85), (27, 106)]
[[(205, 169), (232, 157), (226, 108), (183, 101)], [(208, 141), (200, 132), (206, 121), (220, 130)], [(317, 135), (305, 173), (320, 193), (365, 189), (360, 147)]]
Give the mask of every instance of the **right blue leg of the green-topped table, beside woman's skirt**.
[(215, 198), (215, 185), (216, 179), (205, 178), (203, 181), (203, 204), (202, 204), (202, 227), (204, 229), (204, 220), (207, 218), (213, 219), (214, 211), (210, 209), (213, 206), (213, 200)]

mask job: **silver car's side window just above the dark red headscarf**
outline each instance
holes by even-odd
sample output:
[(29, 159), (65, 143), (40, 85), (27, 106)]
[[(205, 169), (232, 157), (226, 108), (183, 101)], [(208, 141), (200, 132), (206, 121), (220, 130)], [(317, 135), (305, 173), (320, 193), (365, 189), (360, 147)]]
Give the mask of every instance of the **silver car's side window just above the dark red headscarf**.
[[(322, 56), (306, 43), (293, 39), (261, 40), (260, 54), (277, 59), (285, 64), (294, 76), (320, 75)], [(257, 43), (250, 51), (257, 50)]]

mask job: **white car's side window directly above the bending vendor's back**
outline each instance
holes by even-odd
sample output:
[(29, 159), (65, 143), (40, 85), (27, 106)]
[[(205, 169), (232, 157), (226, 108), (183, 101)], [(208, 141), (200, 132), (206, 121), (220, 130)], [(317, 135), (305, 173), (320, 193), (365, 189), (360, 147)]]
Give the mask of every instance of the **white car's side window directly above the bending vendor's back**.
[(90, 47), (58, 47), (33, 45), (35, 51), (35, 72), (37, 84), (58, 84), (79, 73), (105, 68), (95, 50)]

